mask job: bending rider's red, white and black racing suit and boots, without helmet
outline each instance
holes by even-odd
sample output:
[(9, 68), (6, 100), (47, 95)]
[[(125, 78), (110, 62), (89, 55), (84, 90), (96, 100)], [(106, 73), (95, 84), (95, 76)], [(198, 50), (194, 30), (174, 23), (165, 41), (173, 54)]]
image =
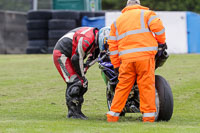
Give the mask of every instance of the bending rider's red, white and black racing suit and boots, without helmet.
[[(83, 95), (87, 91), (87, 69), (96, 62), (99, 54), (98, 29), (80, 27), (61, 37), (53, 51), (54, 64), (67, 83), (66, 104), (68, 118), (87, 119), (82, 113)], [(86, 63), (84, 59), (89, 55)]]

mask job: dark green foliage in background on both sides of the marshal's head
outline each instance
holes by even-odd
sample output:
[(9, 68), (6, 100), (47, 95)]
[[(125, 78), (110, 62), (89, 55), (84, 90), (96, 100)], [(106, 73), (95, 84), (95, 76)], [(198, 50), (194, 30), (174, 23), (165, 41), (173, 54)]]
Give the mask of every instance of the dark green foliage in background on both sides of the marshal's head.
[[(102, 0), (104, 10), (121, 10), (127, 0)], [(200, 13), (200, 0), (140, 0), (141, 5), (156, 11), (193, 11)]]

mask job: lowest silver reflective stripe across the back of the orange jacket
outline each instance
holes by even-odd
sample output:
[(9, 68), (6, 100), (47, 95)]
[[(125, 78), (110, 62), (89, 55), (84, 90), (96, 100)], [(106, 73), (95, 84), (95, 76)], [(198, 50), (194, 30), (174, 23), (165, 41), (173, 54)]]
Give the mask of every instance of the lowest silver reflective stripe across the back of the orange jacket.
[(124, 54), (129, 54), (129, 53), (154, 51), (154, 50), (158, 50), (158, 47), (143, 47), (143, 48), (127, 49), (127, 50), (124, 50), (124, 51), (120, 51), (119, 56), (124, 55)]

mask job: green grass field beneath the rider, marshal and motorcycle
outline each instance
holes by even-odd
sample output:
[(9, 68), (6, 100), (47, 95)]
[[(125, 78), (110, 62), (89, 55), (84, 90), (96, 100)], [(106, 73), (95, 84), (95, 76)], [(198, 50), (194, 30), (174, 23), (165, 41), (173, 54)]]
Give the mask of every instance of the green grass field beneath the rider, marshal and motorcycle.
[(88, 70), (83, 112), (88, 120), (66, 119), (66, 85), (52, 55), (0, 55), (0, 133), (200, 133), (200, 55), (171, 55), (156, 71), (174, 96), (169, 122), (142, 123), (127, 114), (106, 122), (105, 84), (96, 64)]

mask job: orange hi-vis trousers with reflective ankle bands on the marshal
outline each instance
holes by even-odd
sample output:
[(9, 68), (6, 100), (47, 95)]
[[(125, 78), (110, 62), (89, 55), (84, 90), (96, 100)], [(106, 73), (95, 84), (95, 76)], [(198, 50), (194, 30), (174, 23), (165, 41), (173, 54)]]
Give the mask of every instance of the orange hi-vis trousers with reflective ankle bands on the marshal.
[[(119, 113), (123, 110), (129, 93), (137, 80), (140, 94), (140, 112), (143, 114), (143, 122), (155, 121), (155, 59), (145, 59), (135, 62), (123, 62), (119, 68), (119, 83), (115, 89), (115, 95), (111, 109), (107, 113), (108, 122), (116, 122)], [(113, 115), (115, 114), (115, 115)]]

